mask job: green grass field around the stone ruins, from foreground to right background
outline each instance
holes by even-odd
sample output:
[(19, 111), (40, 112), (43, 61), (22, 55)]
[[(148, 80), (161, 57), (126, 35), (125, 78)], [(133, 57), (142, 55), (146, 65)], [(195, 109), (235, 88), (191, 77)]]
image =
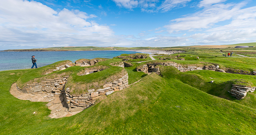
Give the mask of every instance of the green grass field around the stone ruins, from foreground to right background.
[[(118, 60), (103, 61), (99, 65), (114, 61)], [(174, 61), (200, 64), (200, 60)], [(255, 63), (249, 58), (209, 57), (201, 61), (234, 68), (248, 65), (243, 68), (248, 70), (253, 70)], [(10, 94), (10, 86), (30, 70), (1, 71), (0, 134), (255, 134), (255, 94), (248, 93), (244, 99), (236, 100), (227, 90), (236, 83), (235, 79), (243, 79), (256, 86), (256, 76), (208, 70), (181, 73), (174, 67), (164, 66), (160, 66), (160, 75), (145, 75), (135, 72), (138, 65), (125, 70), (129, 84), (142, 78), (140, 82), (108, 95), (79, 114), (59, 119), (47, 117), (50, 110), (46, 102), (22, 101)], [(213, 84), (209, 83), (211, 80), (214, 80)]]

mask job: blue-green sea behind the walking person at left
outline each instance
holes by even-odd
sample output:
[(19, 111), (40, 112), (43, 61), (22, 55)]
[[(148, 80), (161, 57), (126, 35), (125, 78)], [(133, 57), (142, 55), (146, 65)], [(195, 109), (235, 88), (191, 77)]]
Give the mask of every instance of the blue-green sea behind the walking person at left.
[[(62, 60), (70, 60), (75, 63), (81, 58), (113, 58), (121, 54), (141, 53), (135, 51), (0, 51), (0, 71), (17, 70), (32, 67), (31, 56), (35, 55), (37, 67), (43, 67)], [(35, 67), (34, 67), (35, 68)]]

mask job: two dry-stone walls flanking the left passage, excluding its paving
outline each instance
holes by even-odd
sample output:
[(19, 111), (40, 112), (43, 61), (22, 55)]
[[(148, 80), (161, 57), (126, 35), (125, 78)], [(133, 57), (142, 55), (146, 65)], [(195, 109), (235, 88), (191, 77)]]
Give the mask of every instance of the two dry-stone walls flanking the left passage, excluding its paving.
[(103, 88), (98, 90), (87, 90), (81, 95), (71, 95), (70, 88), (66, 88), (65, 84), (69, 76), (58, 77), (53, 79), (46, 79), (41, 82), (33, 82), (32, 84), (26, 84), (22, 89), (17, 87), (17, 90), (23, 93), (31, 94), (48, 94), (47, 97), (57, 97), (64, 99), (63, 105), (68, 106), (69, 112), (82, 111), (85, 108), (95, 104), (96, 99), (102, 95), (112, 94), (114, 91), (120, 91), (128, 87), (128, 73), (122, 78), (107, 82)]

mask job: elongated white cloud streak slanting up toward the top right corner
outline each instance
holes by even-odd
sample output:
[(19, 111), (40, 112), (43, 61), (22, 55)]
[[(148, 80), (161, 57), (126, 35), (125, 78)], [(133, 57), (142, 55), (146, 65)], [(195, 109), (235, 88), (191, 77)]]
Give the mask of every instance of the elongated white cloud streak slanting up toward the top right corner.
[(193, 31), (211, 28), (215, 23), (232, 19), (232, 17), (239, 13), (241, 7), (244, 5), (245, 3), (216, 4), (186, 17), (171, 20), (172, 23), (164, 27), (167, 28), (170, 33), (174, 31)]

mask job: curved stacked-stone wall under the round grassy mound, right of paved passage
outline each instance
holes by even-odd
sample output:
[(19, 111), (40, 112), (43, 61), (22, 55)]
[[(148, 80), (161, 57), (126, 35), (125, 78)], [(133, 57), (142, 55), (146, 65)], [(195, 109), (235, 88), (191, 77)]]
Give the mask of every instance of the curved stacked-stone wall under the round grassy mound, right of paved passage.
[(128, 74), (124, 75), (118, 80), (113, 80), (112, 82), (106, 83), (102, 89), (98, 90), (87, 90), (85, 94), (81, 95), (70, 95), (70, 88), (66, 89), (66, 103), (69, 105), (69, 111), (72, 112), (73, 108), (88, 108), (95, 104), (96, 99), (100, 98), (102, 95), (109, 95), (114, 91), (123, 90), (128, 87)]

